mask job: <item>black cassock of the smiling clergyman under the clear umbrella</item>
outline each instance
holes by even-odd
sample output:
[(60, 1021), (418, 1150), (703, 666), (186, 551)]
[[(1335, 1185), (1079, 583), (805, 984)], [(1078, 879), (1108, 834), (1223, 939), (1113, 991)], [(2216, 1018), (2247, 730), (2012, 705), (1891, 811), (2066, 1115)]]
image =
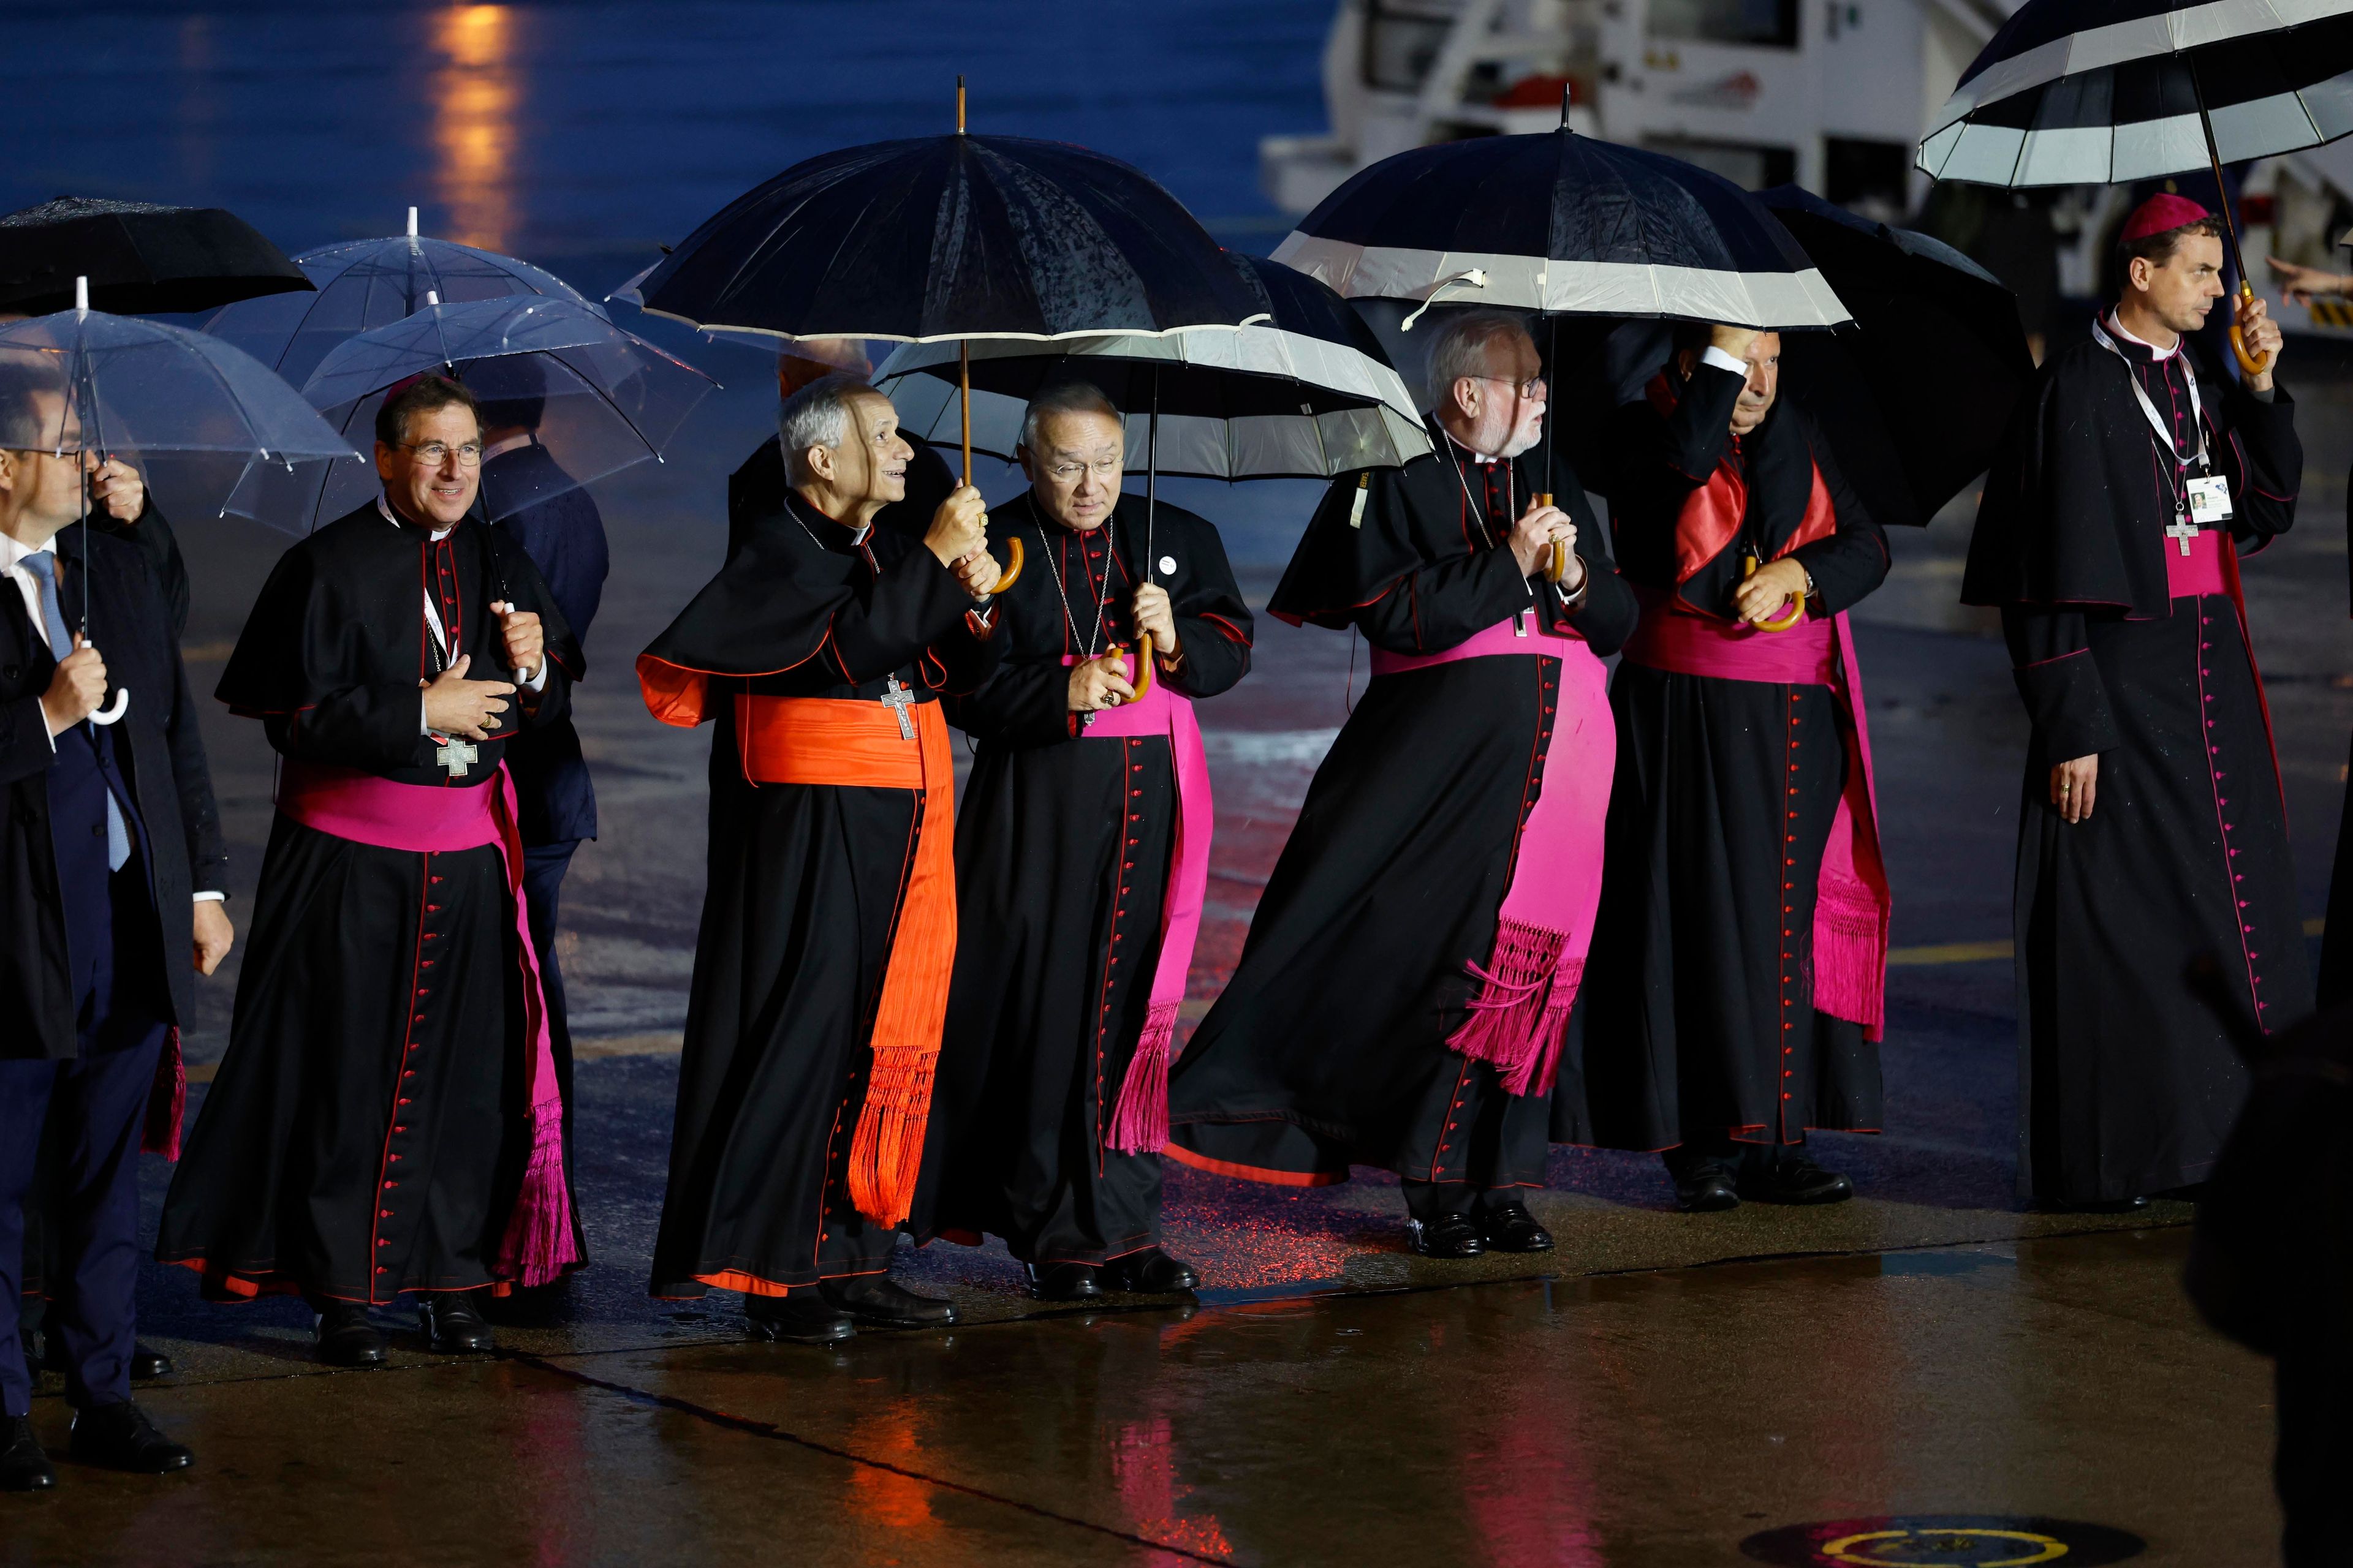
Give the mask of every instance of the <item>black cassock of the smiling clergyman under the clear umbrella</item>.
[[(492, 599), (541, 616), (548, 682), (435, 764), (419, 682), (424, 618), (511, 679)], [(581, 654), (532, 559), (478, 522), (433, 543), (376, 505), (287, 550), (254, 602), (219, 698), (259, 717), (289, 764), (400, 785), (496, 788), (506, 738), (569, 710)], [(532, 1152), (515, 903), (496, 846), (414, 853), (278, 813), (261, 860), (228, 1053), (172, 1178), (158, 1258), (207, 1295), (308, 1291), (388, 1302), (494, 1284)]]

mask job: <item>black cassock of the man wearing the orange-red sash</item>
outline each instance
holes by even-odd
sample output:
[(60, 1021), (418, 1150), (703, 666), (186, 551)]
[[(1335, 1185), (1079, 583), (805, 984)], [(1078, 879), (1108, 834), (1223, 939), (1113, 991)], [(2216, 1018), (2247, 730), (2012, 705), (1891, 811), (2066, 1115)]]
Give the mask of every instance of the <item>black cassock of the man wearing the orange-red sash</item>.
[(748, 783), (734, 696), (969, 691), (998, 658), (969, 609), (925, 545), (854, 536), (788, 494), (746, 520), (720, 574), (638, 661), (649, 698), (659, 670), (708, 677), (696, 701), (713, 722), (708, 891), (654, 1295), (776, 1295), (889, 1265), (899, 1232), (856, 1211), (847, 1164), (925, 797)]

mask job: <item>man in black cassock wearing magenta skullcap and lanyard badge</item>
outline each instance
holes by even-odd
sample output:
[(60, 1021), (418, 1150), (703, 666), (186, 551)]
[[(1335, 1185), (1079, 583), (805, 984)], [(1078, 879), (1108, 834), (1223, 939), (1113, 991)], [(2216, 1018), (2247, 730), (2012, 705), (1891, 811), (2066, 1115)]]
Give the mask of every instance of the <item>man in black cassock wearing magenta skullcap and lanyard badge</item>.
[[(2207, 1178), (2247, 1093), (2191, 959), (2264, 1030), (2313, 1001), (2238, 548), (2294, 522), (2304, 449), (2271, 369), (2193, 364), (2219, 226), (2125, 223), (2125, 287), (2054, 355), (1986, 480), (1965, 604), (1998, 604), (2033, 722), (2019, 823), (2019, 1192), (2141, 1206)], [(2249, 348), (2278, 355), (2259, 301)]]

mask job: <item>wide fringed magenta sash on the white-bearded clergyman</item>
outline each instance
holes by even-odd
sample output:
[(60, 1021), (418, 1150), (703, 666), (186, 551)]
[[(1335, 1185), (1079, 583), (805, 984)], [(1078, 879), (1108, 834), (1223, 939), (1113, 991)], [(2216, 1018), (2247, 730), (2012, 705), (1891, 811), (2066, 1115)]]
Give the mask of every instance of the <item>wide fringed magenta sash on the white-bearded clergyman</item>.
[(1560, 710), (1541, 719), (1548, 736), (1544, 780), (1511, 846), (1494, 947), (1485, 966), (1464, 961), (1480, 985), (1471, 1016), (1447, 1037), (1454, 1051), (1492, 1063), (1515, 1095), (1551, 1093), (1560, 1070), (1602, 898), (1602, 827), (1617, 771), (1609, 672), (1581, 637), (1555, 637), (1529, 621), (1532, 611), (1497, 621), (1442, 654), (1372, 651), (1374, 679), (1459, 658), (1532, 654), (1560, 661)]

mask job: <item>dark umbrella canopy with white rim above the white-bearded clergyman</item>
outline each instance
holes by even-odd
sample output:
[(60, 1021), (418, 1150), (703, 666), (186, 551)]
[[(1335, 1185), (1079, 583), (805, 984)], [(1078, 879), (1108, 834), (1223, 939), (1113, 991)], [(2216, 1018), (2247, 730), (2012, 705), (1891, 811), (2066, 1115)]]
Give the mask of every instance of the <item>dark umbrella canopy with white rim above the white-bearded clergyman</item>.
[(1831, 327), (1838, 294), (1753, 195), (1567, 127), (1409, 148), (1275, 247), (1348, 299)]

